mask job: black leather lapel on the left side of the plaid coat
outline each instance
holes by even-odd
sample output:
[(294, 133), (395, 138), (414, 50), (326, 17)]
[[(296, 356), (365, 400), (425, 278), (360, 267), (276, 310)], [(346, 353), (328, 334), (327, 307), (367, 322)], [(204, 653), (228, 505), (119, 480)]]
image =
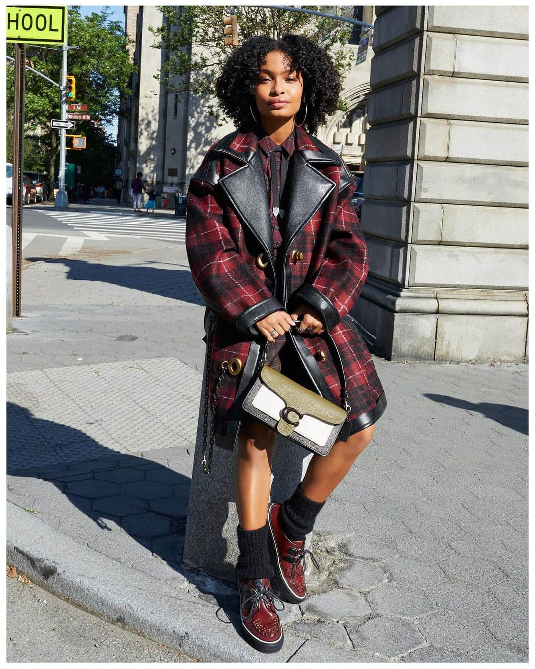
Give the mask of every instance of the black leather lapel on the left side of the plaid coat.
[[(219, 150), (219, 149), (218, 149)], [(261, 158), (258, 151), (229, 153), (241, 161), (242, 167), (219, 179), (219, 184), (233, 204), (235, 210), (257, 238), (267, 256), (274, 263), (274, 246), (270, 203), (263, 176)]]

